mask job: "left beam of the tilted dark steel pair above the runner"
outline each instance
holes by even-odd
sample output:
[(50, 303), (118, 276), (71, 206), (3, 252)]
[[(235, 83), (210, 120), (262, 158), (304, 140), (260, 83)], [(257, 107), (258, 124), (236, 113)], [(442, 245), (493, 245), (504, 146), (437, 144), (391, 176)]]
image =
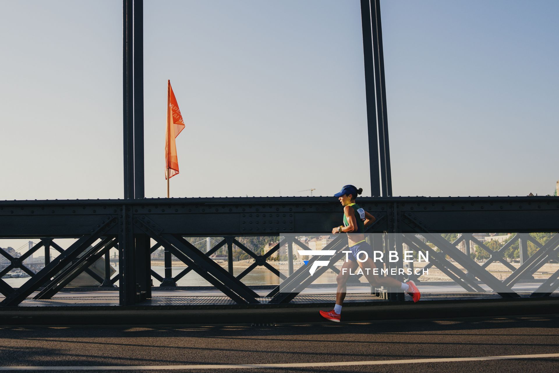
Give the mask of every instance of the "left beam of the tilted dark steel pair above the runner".
[(367, 101), (367, 129), (369, 136), (369, 171), (371, 196), (380, 196), (380, 171), (378, 168), (378, 136), (375, 106), (375, 64), (371, 39), (371, 8), (369, 0), (361, 0), (361, 25), (363, 30), (363, 60), (365, 67), (365, 95)]

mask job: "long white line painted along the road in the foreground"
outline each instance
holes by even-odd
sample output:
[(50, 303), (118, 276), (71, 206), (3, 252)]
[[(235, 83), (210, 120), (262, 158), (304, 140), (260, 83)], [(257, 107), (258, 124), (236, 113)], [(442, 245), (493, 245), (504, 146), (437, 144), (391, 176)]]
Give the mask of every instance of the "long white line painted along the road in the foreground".
[(443, 357), (406, 360), (369, 360), (369, 361), (337, 361), (337, 362), (307, 362), (307, 363), (279, 363), (279, 364), (200, 364), (200, 365), (115, 365), (115, 366), (0, 366), (0, 371), (8, 370), (178, 370), (178, 369), (269, 369), (269, 368), (312, 368), (325, 366), (351, 365), (389, 365), (413, 364), (422, 362), (455, 362), (482, 360), (510, 360), (559, 357), (559, 353), (541, 353), (539, 355), (504, 355), (480, 357)]

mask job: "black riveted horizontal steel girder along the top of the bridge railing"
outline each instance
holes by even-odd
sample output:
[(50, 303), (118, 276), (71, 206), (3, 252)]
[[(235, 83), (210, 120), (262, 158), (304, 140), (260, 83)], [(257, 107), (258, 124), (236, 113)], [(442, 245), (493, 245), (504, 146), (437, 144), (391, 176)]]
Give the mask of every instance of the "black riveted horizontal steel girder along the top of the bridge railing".
[[(413, 213), (430, 232), (555, 232), (557, 197), (359, 197), (367, 211), (395, 206)], [(122, 206), (149, 216), (165, 233), (196, 235), (281, 235), (326, 233), (339, 225), (342, 209), (334, 197), (216, 197), (143, 200), (0, 201), (0, 237), (80, 237)], [(387, 223), (375, 232), (389, 230)], [(401, 233), (415, 230), (400, 222)], [(141, 233), (136, 227), (134, 234)], [(108, 234), (119, 234), (112, 228)]]

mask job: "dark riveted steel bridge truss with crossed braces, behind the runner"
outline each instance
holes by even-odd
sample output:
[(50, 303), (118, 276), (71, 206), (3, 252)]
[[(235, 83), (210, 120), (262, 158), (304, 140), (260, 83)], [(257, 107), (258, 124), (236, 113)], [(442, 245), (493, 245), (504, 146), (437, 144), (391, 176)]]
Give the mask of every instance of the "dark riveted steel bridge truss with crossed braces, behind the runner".
[[(512, 289), (518, 281), (531, 278), (545, 263), (559, 259), (559, 235), (542, 244), (528, 234), (559, 230), (559, 199), (556, 197), (360, 197), (359, 204), (377, 219), (369, 228), (369, 233), (373, 233), (373, 247), (400, 252), (399, 262), (387, 263), (387, 266), (403, 268), (401, 253), (402, 244), (405, 244), (412, 251), (428, 252), (429, 263), (425, 268), (438, 268), (466, 291), (485, 292), (481, 286), (485, 284), (503, 297), (518, 298)], [(0, 293), (5, 297), (0, 306), (15, 306), (30, 296), (49, 299), (82, 272), (102, 282), (102, 286), (112, 286), (119, 281), (120, 304), (131, 305), (150, 298), (152, 276), (162, 285), (165, 280), (174, 285), (190, 271), (198, 273), (235, 303), (257, 304), (259, 295), (241, 280), (259, 266), (282, 280), (280, 286), (269, 292), (269, 303), (288, 303), (321, 273), (339, 272), (334, 264), (343, 258), (347, 239), (339, 235), (324, 248), (334, 250), (335, 256), (329, 258), (329, 266), (319, 267), (314, 276), (309, 270), (314, 261), (322, 259), (320, 256), (310, 258), (306, 266), (290, 268), (288, 276), (269, 264), (268, 259), (284, 245), (288, 245), (288, 253), (292, 253), (293, 244), (309, 249), (296, 235), (329, 234), (333, 226), (339, 225), (340, 214), (339, 203), (328, 197), (0, 202), (0, 238), (40, 239), (21, 257), (0, 250), (10, 262), (0, 275), (21, 268), (31, 276), (17, 289), (0, 279)], [(454, 242), (441, 235), (454, 232), (462, 232)], [(498, 251), (493, 251), (473, 237), (475, 232), (517, 232), (517, 235)], [(268, 252), (257, 254), (237, 239), (249, 235), (282, 238)], [(223, 239), (204, 253), (184, 238), (200, 236)], [(58, 238), (77, 240), (63, 249), (55, 242)], [(153, 247), (149, 245), (150, 239), (156, 242)], [(490, 254), (489, 260), (479, 265), (456, 247), (462, 241), (485, 250)], [(518, 268), (503, 255), (516, 242), (521, 256)], [(537, 248), (530, 257), (528, 242)], [(231, 258), (233, 246), (254, 259), (252, 265), (236, 276), (231, 261), (226, 270), (210, 258), (222, 247), (228, 249)], [(167, 268), (165, 278), (155, 273), (150, 267), (150, 254), (159, 247), (165, 249), (169, 258), (171, 254), (176, 256), (187, 268), (175, 277), (167, 275)], [(45, 255), (49, 258), (45, 259), (45, 267), (35, 273), (23, 262), (40, 248), (45, 249), (45, 254), (53, 248), (59, 255), (52, 261), (50, 255)], [(119, 274), (101, 278), (88, 267), (103, 256), (108, 266), (111, 248), (119, 252)], [(498, 280), (487, 270), (492, 262), (502, 263), (511, 275)], [(404, 279), (401, 275), (396, 277)], [(543, 281), (532, 296), (548, 296), (558, 286), (559, 271)], [(389, 293), (391, 300), (402, 299), (402, 294), (395, 289), (389, 289)]]

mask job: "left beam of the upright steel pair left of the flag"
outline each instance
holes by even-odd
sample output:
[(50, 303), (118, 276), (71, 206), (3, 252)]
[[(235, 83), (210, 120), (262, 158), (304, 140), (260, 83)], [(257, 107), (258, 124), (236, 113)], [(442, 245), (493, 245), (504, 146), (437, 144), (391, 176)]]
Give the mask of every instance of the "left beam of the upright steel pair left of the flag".
[(134, 198), (134, 90), (132, 64), (132, 0), (122, 1), (122, 116), (124, 198)]

